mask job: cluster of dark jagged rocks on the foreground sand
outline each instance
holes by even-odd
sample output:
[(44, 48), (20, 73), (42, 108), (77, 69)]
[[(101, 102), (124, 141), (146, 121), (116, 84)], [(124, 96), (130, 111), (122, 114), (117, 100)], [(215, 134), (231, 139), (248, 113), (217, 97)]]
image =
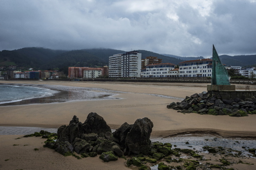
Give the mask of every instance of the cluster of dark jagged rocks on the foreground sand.
[(153, 123), (148, 118), (137, 119), (134, 124), (124, 123), (114, 133), (103, 117), (91, 112), (84, 123), (77, 116), (57, 131), (57, 140), (45, 142), (45, 147), (55, 149), (64, 156), (78, 153), (82, 157), (99, 158), (105, 162), (132, 154), (150, 153), (150, 134)]

